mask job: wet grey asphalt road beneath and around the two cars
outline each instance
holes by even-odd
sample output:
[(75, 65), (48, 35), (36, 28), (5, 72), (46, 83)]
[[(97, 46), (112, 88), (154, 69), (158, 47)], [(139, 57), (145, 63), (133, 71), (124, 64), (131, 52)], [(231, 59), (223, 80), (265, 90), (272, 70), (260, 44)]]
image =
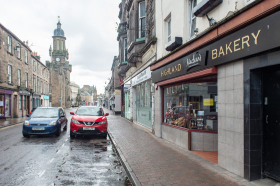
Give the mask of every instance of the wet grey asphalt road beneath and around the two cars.
[(129, 184), (109, 137), (70, 139), (74, 110), (66, 109), (68, 129), (59, 137), (23, 137), (22, 123), (0, 129), (1, 185)]

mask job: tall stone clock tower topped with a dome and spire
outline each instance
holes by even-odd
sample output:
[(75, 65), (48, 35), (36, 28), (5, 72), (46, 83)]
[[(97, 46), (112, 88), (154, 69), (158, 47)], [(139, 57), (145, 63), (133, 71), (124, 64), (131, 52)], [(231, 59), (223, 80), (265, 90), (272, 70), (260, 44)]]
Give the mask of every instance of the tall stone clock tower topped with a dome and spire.
[(66, 37), (58, 21), (53, 35), (53, 49), (49, 49), (51, 62), (46, 61), (50, 69), (50, 102), (52, 106), (71, 106), (70, 73), (72, 65), (69, 64), (69, 53), (65, 45)]

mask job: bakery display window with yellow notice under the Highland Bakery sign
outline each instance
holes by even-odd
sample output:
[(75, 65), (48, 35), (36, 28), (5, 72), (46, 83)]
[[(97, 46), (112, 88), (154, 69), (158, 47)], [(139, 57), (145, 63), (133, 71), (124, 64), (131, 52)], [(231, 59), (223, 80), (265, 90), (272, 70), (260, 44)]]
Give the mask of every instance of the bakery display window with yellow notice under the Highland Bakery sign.
[(165, 87), (164, 122), (189, 129), (217, 131), (217, 82)]

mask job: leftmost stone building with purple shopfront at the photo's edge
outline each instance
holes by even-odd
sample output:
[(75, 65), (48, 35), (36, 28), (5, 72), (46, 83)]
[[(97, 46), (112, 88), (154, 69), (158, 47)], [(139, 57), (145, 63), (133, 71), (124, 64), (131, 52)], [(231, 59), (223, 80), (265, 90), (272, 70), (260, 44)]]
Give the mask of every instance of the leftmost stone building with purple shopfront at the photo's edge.
[(32, 50), (0, 23), (0, 119), (31, 110)]

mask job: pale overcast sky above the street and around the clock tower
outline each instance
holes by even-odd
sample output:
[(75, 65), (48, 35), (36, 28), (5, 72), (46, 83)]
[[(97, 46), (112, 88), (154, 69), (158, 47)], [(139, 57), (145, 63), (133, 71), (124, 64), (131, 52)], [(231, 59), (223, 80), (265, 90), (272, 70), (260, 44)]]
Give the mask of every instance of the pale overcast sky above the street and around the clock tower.
[(104, 93), (118, 55), (116, 22), (121, 0), (0, 0), (0, 22), (38, 52), (45, 64), (58, 15), (66, 37), (71, 81)]

